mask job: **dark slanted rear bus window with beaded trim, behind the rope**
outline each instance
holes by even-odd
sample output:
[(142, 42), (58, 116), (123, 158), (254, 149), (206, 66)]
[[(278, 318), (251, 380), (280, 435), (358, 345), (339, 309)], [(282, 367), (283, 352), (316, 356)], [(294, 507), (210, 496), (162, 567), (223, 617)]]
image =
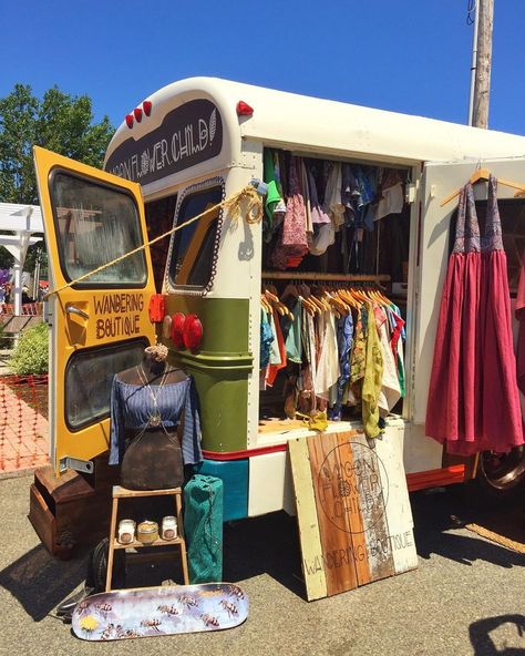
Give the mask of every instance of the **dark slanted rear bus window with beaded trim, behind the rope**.
[[(219, 186), (185, 196), (177, 214), (177, 226), (206, 212), (223, 199)], [(206, 287), (212, 276), (218, 211), (175, 233), (169, 258), (169, 283), (173, 286)]]

